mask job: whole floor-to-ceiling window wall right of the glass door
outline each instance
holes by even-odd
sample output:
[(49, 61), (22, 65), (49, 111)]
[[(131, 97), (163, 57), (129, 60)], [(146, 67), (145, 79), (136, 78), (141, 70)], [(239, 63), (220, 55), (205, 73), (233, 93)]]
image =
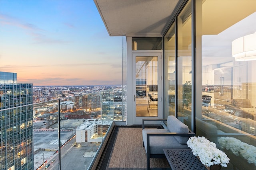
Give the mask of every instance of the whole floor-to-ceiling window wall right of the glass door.
[(230, 158), (226, 169), (256, 169), (256, 1), (188, 1), (175, 21), (164, 35), (164, 117), (195, 122), (196, 135)]

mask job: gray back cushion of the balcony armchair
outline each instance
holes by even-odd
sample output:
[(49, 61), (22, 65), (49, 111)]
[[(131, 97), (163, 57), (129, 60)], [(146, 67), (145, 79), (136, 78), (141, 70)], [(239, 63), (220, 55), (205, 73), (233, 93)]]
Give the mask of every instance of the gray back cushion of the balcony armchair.
[[(170, 132), (176, 132), (176, 133), (189, 132), (188, 126), (182, 123), (179, 119), (177, 119), (173, 115), (170, 115), (167, 117), (167, 128)], [(188, 141), (188, 137), (175, 137), (175, 138), (180, 144), (183, 144), (183, 145), (185, 145)]]

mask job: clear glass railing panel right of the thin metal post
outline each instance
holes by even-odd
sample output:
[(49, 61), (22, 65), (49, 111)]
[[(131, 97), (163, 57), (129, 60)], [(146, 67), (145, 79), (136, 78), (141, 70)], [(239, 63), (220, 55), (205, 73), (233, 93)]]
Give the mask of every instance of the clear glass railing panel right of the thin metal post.
[[(104, 94), (110, 96), (108, 92)], [(112, 100), (108, 101), (108, 106), (113, 102), (113, 96), (111, 97)], [(85, 166), (90, 165), (97, 148), (102, 143), (106, 129), (111, 124), (102, 124), (102, 95), (88, 93), (65, 98), (60, 101), (60, 108), (61, 168), (74, 169), (75, 166), (77, 169), (84, 169)], [(113, 114), (108, 118), (110, 117), (113, 118)], [(70, 166), (70, 160), (75, 162), (81, 154), (83, 155), (80, 159), (81, 163)]]

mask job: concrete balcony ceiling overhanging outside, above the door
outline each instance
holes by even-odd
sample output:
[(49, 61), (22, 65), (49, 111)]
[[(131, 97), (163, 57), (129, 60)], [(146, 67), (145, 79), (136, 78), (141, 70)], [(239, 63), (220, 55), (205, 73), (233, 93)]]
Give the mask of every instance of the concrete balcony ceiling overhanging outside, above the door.
[(183, 0), (94, 0), (110, 36), (162, 37)]

